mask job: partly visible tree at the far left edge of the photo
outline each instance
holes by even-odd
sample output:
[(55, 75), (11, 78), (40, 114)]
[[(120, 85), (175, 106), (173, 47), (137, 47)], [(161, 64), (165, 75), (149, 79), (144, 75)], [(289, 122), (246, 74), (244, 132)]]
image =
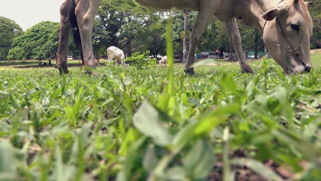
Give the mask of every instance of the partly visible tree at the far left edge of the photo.
[(11, 19), (0, 16), (0, 60), (8, 56), (12, 40), (23, 34), (23, 29)]

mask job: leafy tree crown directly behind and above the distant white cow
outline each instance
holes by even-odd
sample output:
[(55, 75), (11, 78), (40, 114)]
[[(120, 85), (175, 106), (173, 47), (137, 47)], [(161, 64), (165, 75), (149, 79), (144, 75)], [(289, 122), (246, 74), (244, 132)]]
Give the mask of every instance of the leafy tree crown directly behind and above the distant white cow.
[[(165, 45), (160, 40), (162, 14), (143, 8), (134, 0), (103, 0), (93, 31), (95, 55), (106, 56), (106, 47), (112, 45), (123, 49), (128, 56), (132, 51), (160, 51)], [(149, 46), (155, 42), (154, 47)]]

